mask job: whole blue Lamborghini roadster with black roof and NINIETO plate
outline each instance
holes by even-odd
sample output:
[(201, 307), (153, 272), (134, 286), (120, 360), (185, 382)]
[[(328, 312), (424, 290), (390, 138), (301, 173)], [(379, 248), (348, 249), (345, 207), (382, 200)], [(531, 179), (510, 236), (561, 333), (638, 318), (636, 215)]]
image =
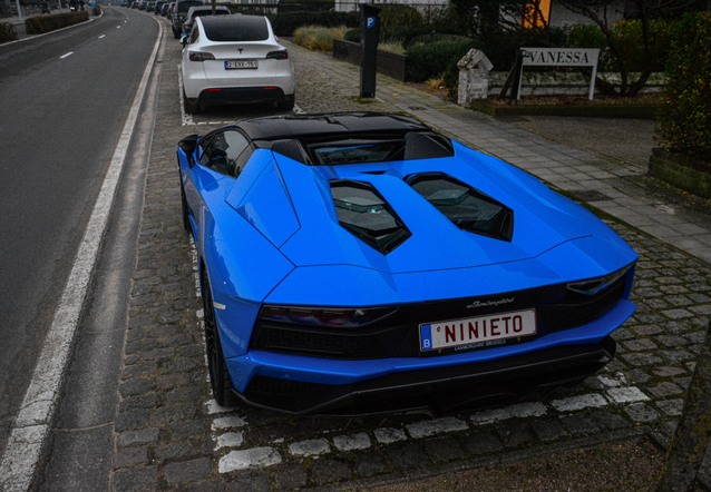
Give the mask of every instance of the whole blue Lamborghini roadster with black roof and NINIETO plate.
[(445, 412), (615, 352), (637, 255), (538, 179), (408, 118), (260, 118), (178, 144), (215, 400)]

